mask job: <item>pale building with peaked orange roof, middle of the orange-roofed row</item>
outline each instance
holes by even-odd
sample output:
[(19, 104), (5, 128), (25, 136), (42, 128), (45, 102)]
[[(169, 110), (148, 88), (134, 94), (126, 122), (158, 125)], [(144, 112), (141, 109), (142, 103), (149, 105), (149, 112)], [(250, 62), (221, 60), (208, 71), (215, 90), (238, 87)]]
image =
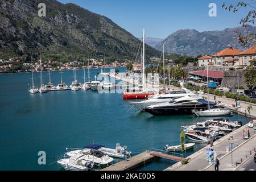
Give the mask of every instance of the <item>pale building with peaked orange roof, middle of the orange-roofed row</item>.
[(239, 56), (242, 51), (233, 47), (226, 48), (212, 55), (213, 65), (235, 65), (238, 64)]

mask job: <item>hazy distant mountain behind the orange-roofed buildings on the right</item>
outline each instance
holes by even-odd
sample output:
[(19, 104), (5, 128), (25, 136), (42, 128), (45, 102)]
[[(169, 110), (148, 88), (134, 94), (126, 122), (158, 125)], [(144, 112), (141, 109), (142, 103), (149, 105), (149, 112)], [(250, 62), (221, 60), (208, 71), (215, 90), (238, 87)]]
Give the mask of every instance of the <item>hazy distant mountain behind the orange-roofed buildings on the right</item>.
[(205, 31), (199, 32), (196, 30), (179, 30), (164, 39), (155, 48), (162, 50), (163, 43), (166, 52), (174, 52), (183, 55), (197, 56), (197, 55), (213, 55), (227, 47), (234, 47), (243, 51), (244, 47), (234, 39), (234, 30), (239, 34), (243, 32), (254, 32), (256, 34), (256, 27), (247, 26), (247, 28), (236, 27), (226, 28), (222, 31)]

